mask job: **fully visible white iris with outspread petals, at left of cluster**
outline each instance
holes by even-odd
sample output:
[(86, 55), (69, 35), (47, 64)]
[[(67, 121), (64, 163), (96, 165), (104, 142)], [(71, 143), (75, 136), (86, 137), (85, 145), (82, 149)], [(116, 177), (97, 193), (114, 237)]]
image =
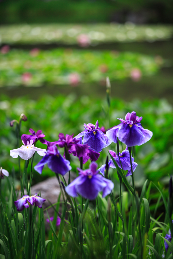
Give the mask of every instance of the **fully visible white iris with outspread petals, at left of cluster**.
[(37, 151), (37, 153), (40, 156), (45, 156), (46, 155), (46, 149), (43, 148), (37, 148), (36, 146), (33, 145), (33, 140), (31, 139), (30, 142), (27, 141), (27, 146), (25, 146), (24, 141), (22, 140), (23, 144), (20, 148), (16, 148), (16, 149), (12, 149), (10, 150), (10, 156), (13, 158), (17, 158), (18, 155), (19, 157), (21, 157), (24, 160), (28, 160), (30, 159), (33, 154), (35, 153), (35, 151)]

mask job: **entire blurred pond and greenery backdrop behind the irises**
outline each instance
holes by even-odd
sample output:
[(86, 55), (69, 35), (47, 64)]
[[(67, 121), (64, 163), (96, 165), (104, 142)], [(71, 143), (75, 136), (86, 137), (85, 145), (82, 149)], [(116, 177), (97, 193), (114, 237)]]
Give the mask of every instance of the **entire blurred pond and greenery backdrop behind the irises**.
[[(173, 170), (172, 13), (171, 0), (1, 0), (3, 168), (10, 172), (14, 165), (17, 174), (18, 161), (9, 156), (16, 148), (15, 125), (10, 128), (9, 122), (21, 113), (28, 117), (21, 134), (29, 134), (30, 127), (42, 129), (47, 140), (56, 141), (60, 132), (76, 136), (83, 123), (97, 119), (107, 129), (135, 110), (143, 116), (142, 126), (153, 131), (151, 141), (137, 148), (136, 184), (141, 188), (146, 178), (168, 184)], [(73, 159), (75, 171), (79, 161)], [(53, 173), (45, 167), (43, 175)], [(33, 182), (43, 179), (36, 175)]]

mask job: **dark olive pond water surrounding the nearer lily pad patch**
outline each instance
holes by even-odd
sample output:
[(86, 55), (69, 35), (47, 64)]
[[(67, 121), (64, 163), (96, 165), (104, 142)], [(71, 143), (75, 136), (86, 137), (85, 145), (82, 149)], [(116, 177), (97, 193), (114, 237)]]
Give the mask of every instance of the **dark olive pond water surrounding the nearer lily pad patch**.
[[(13, 45), (12, 48), (32, 49), (39, 47), (40, 49), (52, 49), (57, 47), (65, 47), (64, 45)], [(76, 45), (69, 45), (68, 48), (78, 48)], [(173, 40), (158, 42), (133, 42), (133, 43), (113, 43), (90, 46), (88, 49), (109, 49), (117, 51), (139, 52), (149, 55), (160, 55), (166, 60), (166, 67), (162, 68), (157, 75), (151, 77), (143, 77), (140, 81), (134, 82), (130, 78), (123, 81), (113, 81), (112, 97), (122, 98), (130, 101), (134, 98), (153, 99), (166, 98), (173, 104)], [(80, 84), (77, 87), (69, 85), (43, 85), (42, 87), (17, 87), (0, 89), (1, 94), (5, 94), (10, 98), (18, 96), (28, 96), (31, 99), (37, 99), (43, 94), (58, 95), (75, 93), (77, 96), (88, 95), (92, 98), (105, 97), (105, 83)]]

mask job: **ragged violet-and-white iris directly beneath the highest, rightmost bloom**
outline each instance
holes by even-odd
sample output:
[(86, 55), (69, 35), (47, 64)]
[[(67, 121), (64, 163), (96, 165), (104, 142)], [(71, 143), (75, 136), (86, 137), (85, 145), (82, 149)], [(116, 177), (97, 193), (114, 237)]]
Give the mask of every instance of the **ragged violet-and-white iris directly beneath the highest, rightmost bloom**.
[[(130, 153), (128, 151), (128, 148), (126, 147), (126, 149), (123, 150), (122, 153), (119, 152), (120, 159), (119, 159), (118, 155), (116, 155), (116, 153), (114, 151), (109, 150), (109, 153), (112, 155), (112, 157), (115, 159), (117, 165), (121, 169), (123, 167), (124, 171), (128, 170), (126, 176), (131, 175)], [(121, 163), (120, 163), (120, 161), (121, 161)], [(134, 162), (134, 158), (133, 157), (131, 157), (131, 162), (132, 162), (132, 170), (134, 172), (138, 164)], [(122, 167), (121, 167), (121, 165), (122, 165)], [(103, 174), (103, 175), (104, 175), (104, 172), (105, 172), (105, 167), (106, 167), (106, 165), (102, 165), (99, 168), (100, 173)], [(114, 165), (114, 162), (112, 161), (112, 159), (109, 160), (108, 167), (116, 168), (116, 166)]]

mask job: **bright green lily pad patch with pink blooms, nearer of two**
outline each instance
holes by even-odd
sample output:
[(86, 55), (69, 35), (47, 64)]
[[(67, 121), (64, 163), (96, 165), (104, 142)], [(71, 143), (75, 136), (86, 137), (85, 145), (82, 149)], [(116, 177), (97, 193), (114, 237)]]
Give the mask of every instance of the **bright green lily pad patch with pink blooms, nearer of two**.
[[(23, 50), (0, 54), (0, 86), (67, 85), (101, 82), (131, 77), (151, 76), (163, 66), (154, 57), (131, 52), (53, 49), (35, 57)], [(25, 77), (27, 77), (25, 79)], [(73, 79), (75, 77), (75, 82)]]

